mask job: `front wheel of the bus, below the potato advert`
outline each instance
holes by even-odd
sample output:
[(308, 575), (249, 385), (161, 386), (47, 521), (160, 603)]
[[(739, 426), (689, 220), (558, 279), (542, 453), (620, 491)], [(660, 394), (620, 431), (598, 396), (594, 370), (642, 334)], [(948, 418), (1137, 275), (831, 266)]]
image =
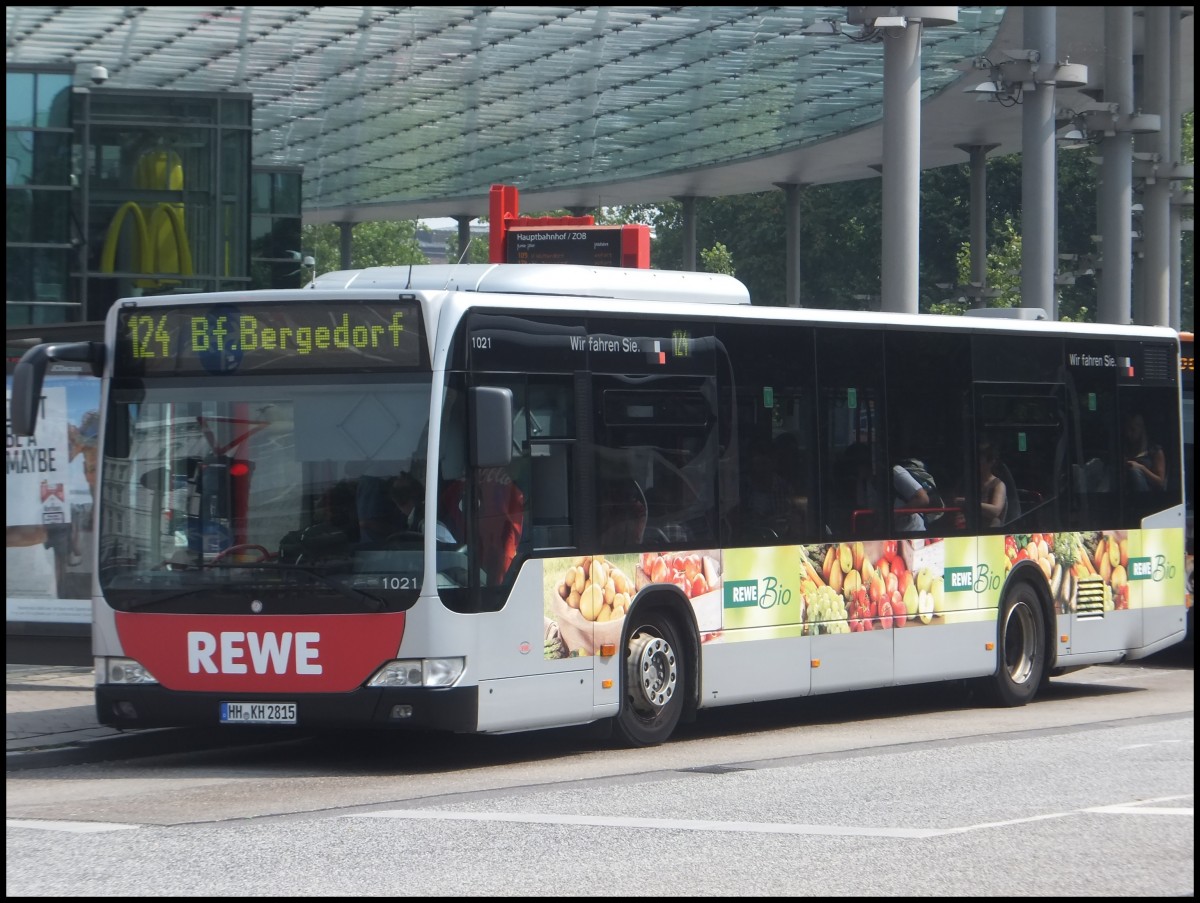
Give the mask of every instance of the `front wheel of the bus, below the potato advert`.
[(656, 746), (674, 731), (683, 714), (685, 668), (683, 636), (661, 609), (634, 614), (625, 641), (620, 711), (613, 723), (618, 742)]

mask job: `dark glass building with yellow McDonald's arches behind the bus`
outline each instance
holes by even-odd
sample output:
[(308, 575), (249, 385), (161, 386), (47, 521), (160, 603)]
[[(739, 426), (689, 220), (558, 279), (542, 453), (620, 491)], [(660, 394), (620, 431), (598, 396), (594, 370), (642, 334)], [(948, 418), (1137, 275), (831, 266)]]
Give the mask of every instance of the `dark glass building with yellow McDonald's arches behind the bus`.
[(251, 166), (251, 95), (73, 82), (6, 70), (10, 345), (98, 335), (119, 298), (301, 283), (302, 172)]

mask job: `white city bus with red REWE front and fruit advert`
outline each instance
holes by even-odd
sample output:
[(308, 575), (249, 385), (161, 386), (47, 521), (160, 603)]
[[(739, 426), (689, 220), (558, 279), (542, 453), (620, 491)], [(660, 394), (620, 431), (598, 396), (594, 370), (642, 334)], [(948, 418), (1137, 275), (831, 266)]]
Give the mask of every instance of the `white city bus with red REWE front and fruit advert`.
[[(119, 301), (103, 343), (25, 354), (12, 418), (48, 360), (103, 377), (104, 723), (653, 744), (869, 687), (1021, 705), (1181, 640), (1178, 355), (1169, 329), (758, 307), (720, 275), (396, 267)], [(1136, 488), (1132, 414), (1166, 460)]]

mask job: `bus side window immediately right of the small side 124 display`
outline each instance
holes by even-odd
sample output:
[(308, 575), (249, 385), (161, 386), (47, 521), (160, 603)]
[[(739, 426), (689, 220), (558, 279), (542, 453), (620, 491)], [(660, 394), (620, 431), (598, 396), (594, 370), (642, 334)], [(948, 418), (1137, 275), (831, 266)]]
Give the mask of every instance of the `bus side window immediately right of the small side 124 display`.
[(721, 412), (732, 423), (721, 461), (722, 544), (814, 542), (812, 329), (731, 324), (719, 339), (730, 364)]

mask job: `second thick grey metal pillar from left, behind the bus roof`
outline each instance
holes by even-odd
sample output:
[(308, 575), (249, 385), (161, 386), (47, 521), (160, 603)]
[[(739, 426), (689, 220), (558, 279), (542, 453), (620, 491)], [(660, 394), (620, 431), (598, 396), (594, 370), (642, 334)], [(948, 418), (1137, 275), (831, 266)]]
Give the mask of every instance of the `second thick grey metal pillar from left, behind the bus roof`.
[(1055, 7), (1025, 7), (1025, 47), (1033, 78), (1021, 96), (1021, 306), (1058, 318), (1055, 294), (1057, 205), (1054, 134)]

